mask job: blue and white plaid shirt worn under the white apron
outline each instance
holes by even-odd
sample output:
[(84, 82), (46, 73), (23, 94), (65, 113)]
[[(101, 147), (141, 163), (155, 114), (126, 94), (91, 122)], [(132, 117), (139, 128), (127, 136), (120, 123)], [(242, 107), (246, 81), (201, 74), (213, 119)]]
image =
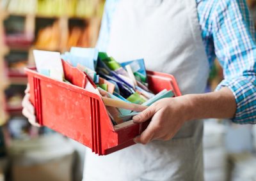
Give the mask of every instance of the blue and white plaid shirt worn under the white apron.
[[(107, 0), (97, 47), (106, 51), (111, 20), (119, 0)], [(224, 73), (218, 85), (233, 92), (237, 110), (232, 119), (256, 124), (256, 33), (244, 0), (195, 0), (210, 64), (217, 57)]]

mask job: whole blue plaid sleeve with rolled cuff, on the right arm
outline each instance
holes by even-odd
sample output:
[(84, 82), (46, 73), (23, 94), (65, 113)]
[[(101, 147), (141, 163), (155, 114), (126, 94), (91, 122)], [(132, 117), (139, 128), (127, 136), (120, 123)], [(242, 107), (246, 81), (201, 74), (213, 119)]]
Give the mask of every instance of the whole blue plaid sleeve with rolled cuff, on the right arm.
[(256, 124), (255, 29), (244, 0), (220, 0), (212, 16), (215, 54), (223, 67), (224, 80), (236, 98), (233, 122)]

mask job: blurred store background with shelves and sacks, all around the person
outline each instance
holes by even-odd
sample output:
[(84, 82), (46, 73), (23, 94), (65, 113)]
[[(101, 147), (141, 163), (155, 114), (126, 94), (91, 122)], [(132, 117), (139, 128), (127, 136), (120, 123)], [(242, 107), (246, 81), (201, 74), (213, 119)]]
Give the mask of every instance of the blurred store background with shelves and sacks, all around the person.
[[(247, 0), (256, 22), (256, 1)], [(94, 47), (103, 0), (0, 0), (0, 181), (78, 181), (84, 146), (22, 116), (32, 50)], [(214, 64), (207, 91), (223, 78)], [(256, 126), (205, 120), (205, 180), (256, 180)]]

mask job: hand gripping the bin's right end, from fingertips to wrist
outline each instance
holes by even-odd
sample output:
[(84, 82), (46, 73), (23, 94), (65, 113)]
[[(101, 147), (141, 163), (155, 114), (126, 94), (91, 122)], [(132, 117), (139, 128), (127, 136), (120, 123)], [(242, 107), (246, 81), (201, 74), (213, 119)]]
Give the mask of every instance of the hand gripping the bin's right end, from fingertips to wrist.
[(136, 143), (147, 144), (152, 140), (170, 140), (188, 120), (189, 103), (186, 96), (165, 98), (149, 106), (147, 110), (133, 117), (136, 123), (152, 118), (147, 129), (134, 138)]

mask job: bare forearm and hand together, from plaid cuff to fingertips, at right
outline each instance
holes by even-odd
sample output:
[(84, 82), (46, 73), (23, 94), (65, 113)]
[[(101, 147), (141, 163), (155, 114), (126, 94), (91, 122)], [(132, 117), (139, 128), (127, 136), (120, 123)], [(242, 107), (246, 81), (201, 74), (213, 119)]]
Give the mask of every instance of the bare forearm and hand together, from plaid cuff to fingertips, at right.
[(236, 99), (227, 87), (207, 94), (188, 94), (157, 101), (133, 117), (136, 123), (152, 118), (147, 129), (134, 138), (136, 143), (152, 140), (170, 140), (184, 122), (208, 118), (232, 118), (236, 113)]

